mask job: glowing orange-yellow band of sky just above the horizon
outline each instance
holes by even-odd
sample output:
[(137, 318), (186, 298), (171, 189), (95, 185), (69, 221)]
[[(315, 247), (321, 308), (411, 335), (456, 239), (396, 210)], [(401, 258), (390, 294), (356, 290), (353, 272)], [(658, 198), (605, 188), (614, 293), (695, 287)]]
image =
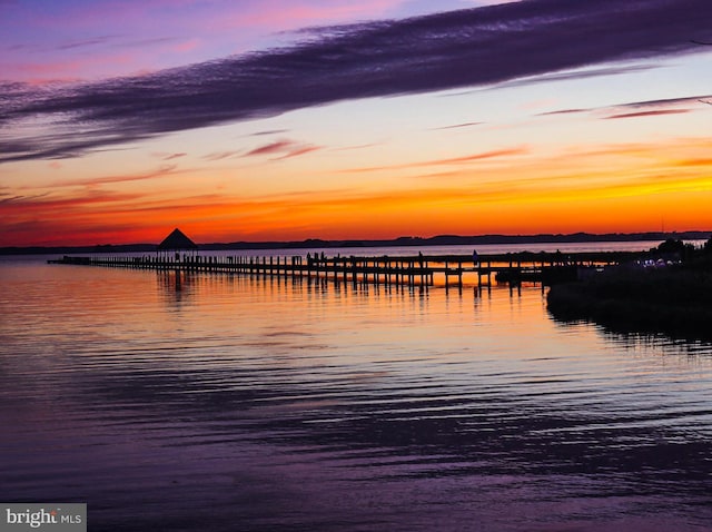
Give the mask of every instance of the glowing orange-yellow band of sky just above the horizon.
[(530, 144), (383, 167), (358, 164), (363, 154), (354, 154), (365, 148), (298, 164), (237, 159), (215, 169), (162, 164), (138, 174), (43, 178), (3, 205), (2, 224), (26, 227), (4, 244), (157, 242), (174, 226), (205, 243), (705, 229), (711, 147), (694, 137)]

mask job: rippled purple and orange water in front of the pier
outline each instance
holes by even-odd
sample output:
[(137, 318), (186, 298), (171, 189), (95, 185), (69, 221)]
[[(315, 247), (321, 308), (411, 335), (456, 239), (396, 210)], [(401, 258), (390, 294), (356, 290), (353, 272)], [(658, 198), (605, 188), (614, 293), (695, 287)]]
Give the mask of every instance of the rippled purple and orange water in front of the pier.
[(0, 427), (0, 500), (89, 530), (712, 530), (712, 348), (534, 286), (3, 260)]

